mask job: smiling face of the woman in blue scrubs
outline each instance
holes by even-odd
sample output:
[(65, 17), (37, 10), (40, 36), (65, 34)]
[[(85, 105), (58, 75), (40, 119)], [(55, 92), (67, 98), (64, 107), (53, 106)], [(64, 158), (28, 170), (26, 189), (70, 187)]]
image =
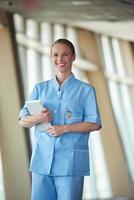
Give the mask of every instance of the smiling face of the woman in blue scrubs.
[(56, 43), (52, 47), (51, 58), (57, 72), (71, 73), (75, 55), (72, 54), (70, 47), (62, 43)]

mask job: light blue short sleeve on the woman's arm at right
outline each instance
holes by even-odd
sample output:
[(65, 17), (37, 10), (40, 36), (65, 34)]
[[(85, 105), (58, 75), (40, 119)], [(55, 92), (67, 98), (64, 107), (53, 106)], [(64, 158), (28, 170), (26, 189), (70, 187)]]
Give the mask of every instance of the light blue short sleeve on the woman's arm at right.
[(96, 92), (91, 87), (84, 107), (84, 121), (101, 125), (100, 112), (97, 104)]

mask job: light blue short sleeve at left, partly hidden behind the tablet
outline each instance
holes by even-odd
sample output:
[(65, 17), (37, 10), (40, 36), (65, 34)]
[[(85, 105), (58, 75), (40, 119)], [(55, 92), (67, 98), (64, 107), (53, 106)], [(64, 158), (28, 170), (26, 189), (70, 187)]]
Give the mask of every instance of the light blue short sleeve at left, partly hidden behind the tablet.
[[(38, 98), (38, 93), (37, 93), (37, 84), (34, 86), (32, 92), (30, 93), (30, 95), (28, 96), (27, 100), (36, 100)], [(19, 119), (26, 116), (26, 115), (30, 115), (26, 105), (24, 104), (24, 106), (21, 108), (20, 113), (19, 113)]]

